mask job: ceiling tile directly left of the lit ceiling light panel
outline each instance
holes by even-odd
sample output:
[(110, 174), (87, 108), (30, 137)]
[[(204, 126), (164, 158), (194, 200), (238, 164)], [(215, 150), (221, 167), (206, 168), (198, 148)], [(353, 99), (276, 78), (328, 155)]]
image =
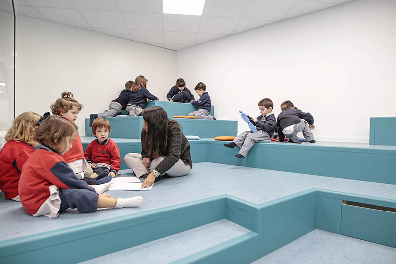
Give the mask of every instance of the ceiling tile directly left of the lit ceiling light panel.
[(116, 0), (120, 11), (162, 13), (162, 0)]

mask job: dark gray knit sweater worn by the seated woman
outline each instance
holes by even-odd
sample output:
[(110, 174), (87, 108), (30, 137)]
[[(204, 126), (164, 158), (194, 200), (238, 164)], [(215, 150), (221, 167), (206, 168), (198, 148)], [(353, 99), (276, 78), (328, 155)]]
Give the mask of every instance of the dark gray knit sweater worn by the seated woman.
[[(142, 129), (141, 138), (143, 138), (143, 133), (145, 133), (144, 129)], [(168, 171), (173, 165), (179, 161), (179, 158), (185, 163), (189, 164), (191, 168), (193, 168), (193, 162), (191, 161), (190, 155), (190, 144), (184, 136), (181, 126), (179, 123), (172, 124), (169, 123), (168, 126), (168, 154), (165, 156), (165, 159), (162, 160), (161, 163), (156, 166), (155, 170), (160, 174)], [(145, 146), (142, 142), (142, 158), (152, 158), (148, 157), (146, 154)]]

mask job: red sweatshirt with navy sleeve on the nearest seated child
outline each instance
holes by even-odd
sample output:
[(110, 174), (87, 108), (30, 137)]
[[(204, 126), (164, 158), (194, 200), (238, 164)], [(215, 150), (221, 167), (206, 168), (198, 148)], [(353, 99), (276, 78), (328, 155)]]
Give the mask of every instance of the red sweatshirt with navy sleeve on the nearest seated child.
[(50, 195), (48, 187), (87, 189), (95, 192), (85, 181), (79, 180), (62, 155), (41, 145), (26, 161), (19, 179), (19, 198), (25, 211), (35, 214)]

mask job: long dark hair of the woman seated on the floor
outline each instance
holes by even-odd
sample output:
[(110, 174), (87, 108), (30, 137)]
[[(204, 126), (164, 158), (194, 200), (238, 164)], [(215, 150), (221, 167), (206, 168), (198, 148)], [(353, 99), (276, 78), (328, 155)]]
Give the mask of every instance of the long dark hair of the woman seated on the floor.
[(146, 121), (147, 132), (142, 132), (142, 149), (149, 158), (158, 158), (168, 154), (168, 127), (178, 124), (168, 119), (165, 110), (160, 106), (148, 107), (143, 111), (143, 119)]

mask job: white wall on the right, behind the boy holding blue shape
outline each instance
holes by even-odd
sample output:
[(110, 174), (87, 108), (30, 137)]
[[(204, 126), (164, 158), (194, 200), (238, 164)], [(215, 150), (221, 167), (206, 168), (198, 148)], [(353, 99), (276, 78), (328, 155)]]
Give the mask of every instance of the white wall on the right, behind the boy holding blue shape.
[[(177, 51), (177, 77), (206, 83), (218, 119), (258, 116), (264, 97), (315, 118), (319, 140), (368, 142), (396, 116), (396, 1), (356, 0)], [(392, 135), (390, 135), (392, 136)]]

